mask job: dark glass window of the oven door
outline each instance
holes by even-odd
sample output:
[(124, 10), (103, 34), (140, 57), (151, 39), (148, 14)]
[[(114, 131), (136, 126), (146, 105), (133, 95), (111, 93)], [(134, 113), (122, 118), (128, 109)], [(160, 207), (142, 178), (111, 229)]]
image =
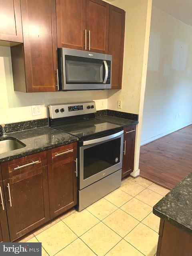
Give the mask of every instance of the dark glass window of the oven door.
[(84, 180), (120, 162), (121, 138), (84, 150)]

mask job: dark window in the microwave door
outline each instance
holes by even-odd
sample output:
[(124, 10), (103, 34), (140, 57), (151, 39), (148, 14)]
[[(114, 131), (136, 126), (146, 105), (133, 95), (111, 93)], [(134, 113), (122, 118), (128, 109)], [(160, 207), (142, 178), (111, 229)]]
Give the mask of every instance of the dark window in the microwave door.
[(65, 56), (66, 84), (103, 84), (103, 60)]

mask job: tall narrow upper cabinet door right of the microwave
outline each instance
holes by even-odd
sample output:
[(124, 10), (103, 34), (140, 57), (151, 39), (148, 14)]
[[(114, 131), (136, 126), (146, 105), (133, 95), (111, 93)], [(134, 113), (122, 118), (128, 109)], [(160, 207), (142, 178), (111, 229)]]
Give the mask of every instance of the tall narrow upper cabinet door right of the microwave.
[(124, 54), (125, 11), (110, 5), (109, 50), (112, 61), (112, 89), (121, 89)]

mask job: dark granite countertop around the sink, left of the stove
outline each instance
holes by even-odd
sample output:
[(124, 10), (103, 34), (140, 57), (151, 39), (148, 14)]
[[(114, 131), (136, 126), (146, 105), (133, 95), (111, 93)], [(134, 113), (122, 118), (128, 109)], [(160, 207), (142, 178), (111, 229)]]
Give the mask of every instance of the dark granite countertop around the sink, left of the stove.
[(48, 126), (11, 132), (6, 134), (6, 137), (14, 137), (18, 139), (26, 144), (26, 147), (0, 154), (0, 163), (70, 144), (78, 140), (76, 136), (72, 136), (66, 132), (61, 132)]

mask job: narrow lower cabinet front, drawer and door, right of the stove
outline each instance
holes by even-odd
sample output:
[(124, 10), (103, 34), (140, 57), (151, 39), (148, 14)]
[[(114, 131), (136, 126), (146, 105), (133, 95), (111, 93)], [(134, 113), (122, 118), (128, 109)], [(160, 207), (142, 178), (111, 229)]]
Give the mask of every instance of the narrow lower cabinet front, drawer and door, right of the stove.
[(135, 153), (135, 136), (136, 126), (130, 126), (124, 129), (124, 152), (122, 179), (126, 178), (134, 168), (134, 153)]

